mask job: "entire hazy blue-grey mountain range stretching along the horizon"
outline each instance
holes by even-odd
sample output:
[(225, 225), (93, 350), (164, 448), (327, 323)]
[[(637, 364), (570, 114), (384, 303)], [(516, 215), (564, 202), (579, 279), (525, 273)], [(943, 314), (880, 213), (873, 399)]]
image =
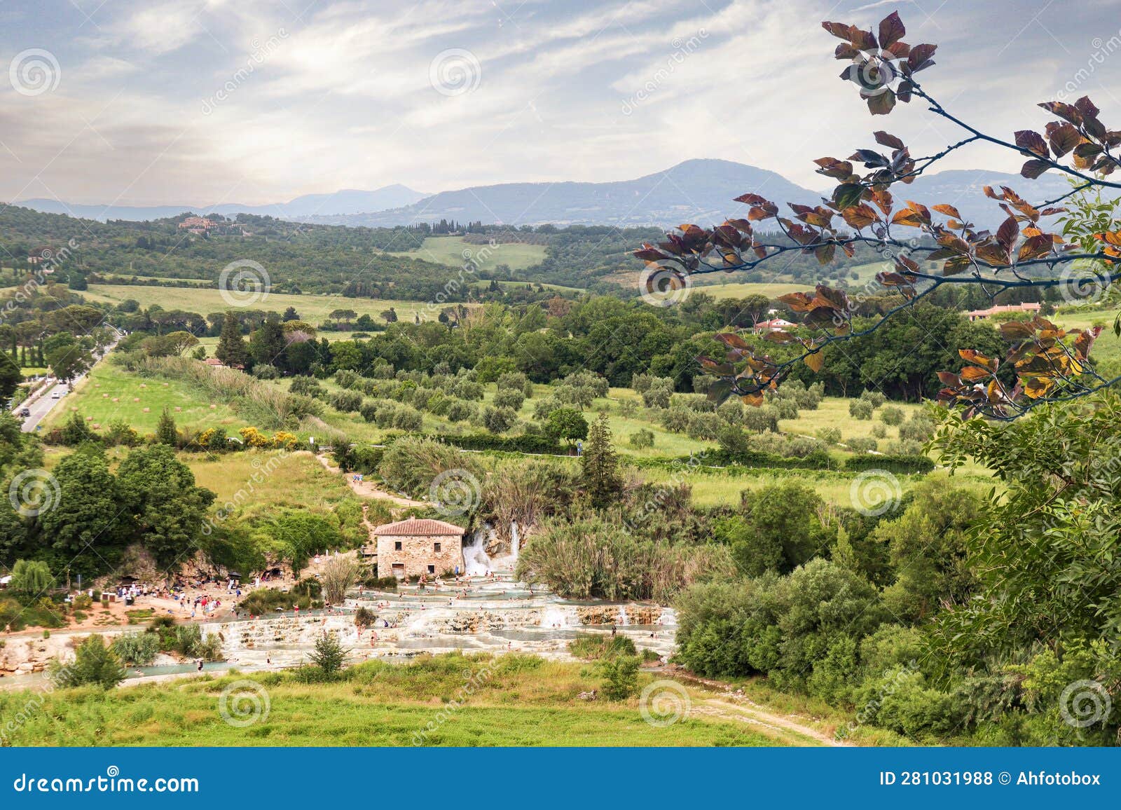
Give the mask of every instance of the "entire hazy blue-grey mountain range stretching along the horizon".
[[(979, 227), (995, 228), (1004, 219), (997, 203), (984, 196), (985, 185), (1008, 185), (1031, 202), (1043, 202), (1069, 191), (1056, 173), (1036, 181), (988, 169), (958, 169), (918, 177), (896, 185), (899, 204), (915, 200), (928, 205), (948, 203)], [(54, 200), (25, 200), (19, 204), (48, 213), (89, 219), (148, 220), (194, 213), (267, 214), (279, 219), (351, 227), (407, 225), (456, 220), (485, 224), (609, 224), (615, 227), (673, 227), (684, 222), (708, 225), (743, 215), (747, 206), (733, 199), (753, 192), (782, 205), (815, 204), (823, 192), (796, 185), (775, 172), (731, 160), (686, 160), (665, 172), (637, 180), (609, 183), (502, 183), (424, 195), (404, 185), (376, 191), (346, 190), (306, 194), (275, 205), (222, 204), (212, 206), (67, 205)], [(785, 205), (784, 205), (784, 210)]]

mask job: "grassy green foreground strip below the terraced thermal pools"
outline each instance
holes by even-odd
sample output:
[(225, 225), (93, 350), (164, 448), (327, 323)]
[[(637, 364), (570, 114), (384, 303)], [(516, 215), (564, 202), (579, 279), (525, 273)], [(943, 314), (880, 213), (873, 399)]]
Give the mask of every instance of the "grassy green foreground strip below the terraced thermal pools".
[[(461, 694), (464, 672), (472, 693)], [(641, 684), (652, 680), (641, 678)], [(248, 682), (247, 682), (248, 681)], [(237, 683), (235, 683), (237, 682)], [(244, 727), (219, 709), (223, 689), (268, 698), (268, 715)], [(423, 656), (370, 662), (334, 683), (302, 684), (289, 673), (192, 678), (111, 692), (56, 690), (11, 733), (31, 746), (763, 746), (815, 745), (796, 731), (751, 724), (734, 707), (689, 689), (693, 710), (657, 727), (624, 701), (580, 700), (600, 688), (595, 669), (524, 656)], [(0, 715), (16, 716), (28, 692), (0, 692)], [(39, 698), (36, 698), (36, 702)], [(247, 703), (248, 706), (248, 703)], [(705, 710), (702, 710), (702, 706)], [(710, 708), (712, 707), (712, 708)], [(725, 708), (726, 707), (726, 708)], [(719, 712), (719, 714), (717, 714)], [(20, 715), (24, 717), (24, 715)], [(247, 717), (245, 719), (252, 719)], [(244, 720), (242, 720), (244, 722)]]

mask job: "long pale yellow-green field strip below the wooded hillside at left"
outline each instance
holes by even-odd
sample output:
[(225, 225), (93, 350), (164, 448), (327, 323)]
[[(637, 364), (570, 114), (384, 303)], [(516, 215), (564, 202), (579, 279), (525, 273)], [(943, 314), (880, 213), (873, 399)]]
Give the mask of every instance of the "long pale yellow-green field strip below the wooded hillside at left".
[[(141, 306), (159, 304), (165, 310), (186, 310), (209, 315), (212, 312), (225, 312), (237, 309), (222, 297), (222, 291), (216, 288), (191, 289), (188, 287), (148, 287), (129, 286), (126, 284), (91, 284), (82, 295), (92, 301), (119, 304), (127, 298), (140, 302)], [(380, 313), (390, 306), (397, 310), (400, 320), (413, 320), (414, 313), (420, 314), (420, 320), (432, 321), (439, 315), (439, 307), (429, 307), (423, 301), (380, 301), (374, 298), (346, 298), (342, 295), (287, 295), (272, 293), (251, 304), (254, 310), (272, 310), (284, 312), (287, 307), (296, 307), (302, 320), (315, 325), (327, 320), (333, 310), (353, 310), (359, 315), (368, 314), (382, 322)]]

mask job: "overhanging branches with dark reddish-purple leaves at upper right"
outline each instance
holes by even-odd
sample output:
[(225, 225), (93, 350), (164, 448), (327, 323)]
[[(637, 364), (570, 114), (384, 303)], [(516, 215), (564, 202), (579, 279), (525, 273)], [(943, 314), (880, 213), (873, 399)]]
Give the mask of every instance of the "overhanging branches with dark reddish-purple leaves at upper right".
[[(1104, 289), (1121, 277), (1121, 229), (1115, 217), (1104, 222), (1095, 217), (1085, 225), (1087, 217), (1080, 211), (1088, 208), (1080, 202), (1080, 195), (1121, 188), (1121, 183), (1106, 180), (1121, 166), (1121, 158), (1113, 154), (1119, 136), (1099, 120), (1100, 110), (1088, 98), (1073, 104), (1040, 104), (1058, 119), (1047, 125), (1046, 138), (1029, 129), (1017, 131), (1011, 140), (988, 135), (949, 113), (924, 89), (917, 74), (934, 65), (937, 46), (902, 42), (906, 28), (898, 13), (881, 20), (874, 33), (841, 22), (822, 26), (842, 40), (835, 52), (836, 58), (846, 63), (841, 77), (858, 85), (873, 116), (889, 114), (897, 101), (918, 98), (934, 116), (962, 128), (966, 137), (930, 157), (915, 158), (900, 138), (877, 131), (873, 137), (883, 150), (861, 148), (844, 160), (822, 157), (815, 162), (819, 174), (837, 183), (821, 205), (790, 203), (791, 219), (767, 197), (748, 193), (736, 197), (749, 205), (745, 218), (726, 220), (712, 229), (682, 225), (667, 234), (666, 242), (643, 243), (636, 251), (647, 263), (643, 283), (651, 293), (667, 282), (684, 286), (686, 276), (753, 270), (794, 251), (813, 255), (824, 265), (836, 258), (837, 249), (851, 257), (856, 247), (865, 246), (893, 259), (893, 270), (877, 275), (886, 311), (869, 324), (854, 324), (859, 301), (850, 300), (843, 289), (819, 284), (810, 293), (780, 296), (779, 301), (803, 316), (797, 329), (766, 335), (767, 341), (782, 348), (781, 352), (753, 347), (735, 331), (717, 333), (726, 349), (724, 358), (701, 358), (702, 366), (720, 378), (710, 387), (710, 396), (722, 401), (734, 394), (760, 405), (763, 393), (781, 384), (795, 368), (804, 365), (821, 372), (828, 347), (876, 334), (882, 322), (945, 292), (943, 287), (972, 285), (990, 300), (1000, 293), (1056, 289), (1064, 297), (1080, 298), (1087, 288)], [(1007, 215), (995, 232), (965, 221), (952, 204), (897, 204), (890, 191), (895, 184), (911, 182), (951, 151), (971, 144), (1026, 156), (1020, 171), (1023, 177), (1035, 180), (1056, 171), (1067, 176), (1072, 188), (1031, 204), (1010, 187), (986, 187), (986, 196)], [(867, 173), (855, 168), (858, 163)], [(1073, 212), (1056, 206), (1068, 201), (1075, 205)], [(1060, 222), (1068, 238), (1044, 230), (1044, 218), (1055, 214), (1066, 214)], [(905, 229), (915, 232), (900, 232)], [(784, 238), (772, 239), (771, 232)], [(909, 236), (917, 236), (918, 245)], [(941, 271), (924, 269), (924, 261), (941, 263)], [(1101, 332), (1099, 326), (1063, 330), (1036, 316), (1003, 323), (1000, 332), (1010, 344), (1006, 355), (1009, 368), (1002, 369), (994, 353), (963, 348), (964, 369), (960, 374), (938, 372), (943, 386), (939, 399), (962, 405), (970, 414), (1009, 420), (1040, 404), (1086, 396), (1112, 384), (1087, 361)]]

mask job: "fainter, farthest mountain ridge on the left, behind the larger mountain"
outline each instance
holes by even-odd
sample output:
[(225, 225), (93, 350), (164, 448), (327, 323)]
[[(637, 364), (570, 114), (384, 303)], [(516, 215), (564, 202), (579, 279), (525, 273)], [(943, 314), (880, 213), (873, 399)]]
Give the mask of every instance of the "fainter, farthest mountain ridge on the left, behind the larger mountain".
[(18, 204), (52, 214), (70, 214), (91, 220), (159, 220), (189, 211), (195, 214), (223, 214), (225, 217), (248, 213), (295, 220), (314, 214), (355, 214), (364, 211), (382, 211), (402, 205), (411, 205), (427, 195), (404, 185), (387, 185), (374, 191), (344, 188), (332, 194), (304, 194), (286, 203), (271, 205), (243, 205), (222, 203), (220, 205), (72, 205), (58, 200), (22, 200)]

